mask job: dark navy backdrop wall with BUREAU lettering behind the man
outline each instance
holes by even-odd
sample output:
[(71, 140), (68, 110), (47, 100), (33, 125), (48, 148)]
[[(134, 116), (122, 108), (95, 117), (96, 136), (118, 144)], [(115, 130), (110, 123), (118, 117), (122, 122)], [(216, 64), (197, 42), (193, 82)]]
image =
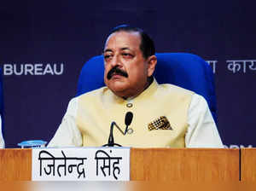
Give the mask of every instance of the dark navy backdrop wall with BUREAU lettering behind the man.
[(32, 139), (49, 142), (76, 94), (84, 62), (102, 54), (109, 30), (124, 23), (147, 31), (157, 52), (189, 52), (209, 61), (224, 144), (256, 146), (255, 6), (241, 0), (3, 1), (6, 147)]

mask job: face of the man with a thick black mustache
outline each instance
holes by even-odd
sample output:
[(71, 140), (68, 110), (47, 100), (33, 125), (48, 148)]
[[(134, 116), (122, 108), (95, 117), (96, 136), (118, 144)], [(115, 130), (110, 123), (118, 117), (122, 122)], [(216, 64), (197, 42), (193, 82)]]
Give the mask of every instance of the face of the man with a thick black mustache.
[(144, 59), (140, 44), (138, 32), (114, 32), (105, 43), (104, 81), (117, 96), (137, 96), (144, 90), (148, 77), (154, 72), (150, 65), (152, 56)]

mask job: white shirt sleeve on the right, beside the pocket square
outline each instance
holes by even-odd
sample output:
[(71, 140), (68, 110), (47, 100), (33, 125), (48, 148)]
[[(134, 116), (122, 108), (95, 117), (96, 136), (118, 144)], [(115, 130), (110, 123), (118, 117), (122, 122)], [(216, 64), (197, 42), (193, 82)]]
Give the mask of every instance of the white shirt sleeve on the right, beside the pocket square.
[(197, 94), (192, 96), (188, 124), (186, 148), (224, 148), (207, 101)]

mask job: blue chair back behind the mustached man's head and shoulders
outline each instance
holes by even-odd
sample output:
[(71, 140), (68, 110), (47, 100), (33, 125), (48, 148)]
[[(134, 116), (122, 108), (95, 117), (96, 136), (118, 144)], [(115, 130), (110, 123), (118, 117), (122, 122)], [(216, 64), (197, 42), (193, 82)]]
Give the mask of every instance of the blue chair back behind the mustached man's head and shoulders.
[[(217, 122), (217, 104), (212, 68), (197, 55), (159, 53), (154, 77), (159, 84), (175, 84), (203, 96)], [(79, 77), (77, 96), (104, 86), (103, 56), (98, 55), (84, 64)]]

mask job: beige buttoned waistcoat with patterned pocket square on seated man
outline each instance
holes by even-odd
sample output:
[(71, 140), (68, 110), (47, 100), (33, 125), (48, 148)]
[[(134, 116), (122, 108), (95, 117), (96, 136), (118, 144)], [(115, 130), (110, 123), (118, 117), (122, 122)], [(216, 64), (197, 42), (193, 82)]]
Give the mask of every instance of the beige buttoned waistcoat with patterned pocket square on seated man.
[[(157, 84), (154, 80), (147, 90), (130, 101), (115, 96), (108, 87), (79, 96), (76, 123), (82, 133), (83, 146), (106, 144), (113, 121), (125, 130), (125, 113), (130, 111), (133, 119), (129, 127), (133, 133), (124, 136), (114, 128), (114, 142), (124, 147), (184, 148), (193, 94), (172, 84)], [(127, 107), (127, 103), (132, 107)], [(160, 116), (166, 116), (172, 130), (148, 130), (148, 124)]]

